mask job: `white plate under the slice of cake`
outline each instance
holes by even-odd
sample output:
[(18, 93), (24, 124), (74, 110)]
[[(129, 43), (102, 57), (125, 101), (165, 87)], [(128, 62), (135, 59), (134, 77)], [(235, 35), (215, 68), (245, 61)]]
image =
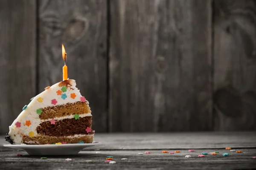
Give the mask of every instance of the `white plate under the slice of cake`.
[(25, 150), (29, 155), (75, 155), (82, 149), (102, 143), (85, 144), (4, 144), (4, 147)]

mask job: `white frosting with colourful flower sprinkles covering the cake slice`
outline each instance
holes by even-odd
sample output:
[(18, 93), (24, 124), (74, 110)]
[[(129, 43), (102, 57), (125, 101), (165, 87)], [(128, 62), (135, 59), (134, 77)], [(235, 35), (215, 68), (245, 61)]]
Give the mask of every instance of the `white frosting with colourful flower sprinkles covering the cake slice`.
[[(49, 106), (64, 105), (66, 103), (75, 102), (88, 102), (81, 96), (80, 91), (76, 88), (76, 81), (73, 79), (58, 82), (51, 87), (47, 87), (45, 91), (38, 94), (32, 101), (23, 108), (23, 111), (15, 119), (11, 126), (9, 126), (9, 136), (15, 142), (20, 144), (22, 141), (21, 134), (34, 137), (37, 135), (36, 128), (41, 122), (50, 121), (51, 119), (40, 119), (41, 108), (47, 108)], [(91, 116), (91, 113), (82, 114), (80, 117)], [(55, 118), (55, 120), (72, 118), (73, 115), (65, 116), (61, 118)]]

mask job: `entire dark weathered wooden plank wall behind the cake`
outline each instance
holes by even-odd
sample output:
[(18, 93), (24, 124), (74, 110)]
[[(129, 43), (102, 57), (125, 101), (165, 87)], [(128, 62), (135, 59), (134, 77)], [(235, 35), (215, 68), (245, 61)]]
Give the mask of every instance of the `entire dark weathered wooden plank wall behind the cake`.
[(61, 43), (96, 132), (256, 130), (254, 0), (0, 0), (0, 133)]

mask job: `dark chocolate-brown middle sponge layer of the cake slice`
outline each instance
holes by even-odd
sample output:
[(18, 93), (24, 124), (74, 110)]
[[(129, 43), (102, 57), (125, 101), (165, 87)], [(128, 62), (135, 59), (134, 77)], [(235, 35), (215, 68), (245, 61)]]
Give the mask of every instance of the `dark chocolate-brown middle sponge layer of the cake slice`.
[(85, 116), (79, 119), (56, 120), (55, 125), (52, 125), (50, 121), (43, 122), (36, 128), (36, 131), (40, 135), (47, 136), (93, 134), (93, 132), (86, 132), (87, 127), (92, 127), (92, 116)]

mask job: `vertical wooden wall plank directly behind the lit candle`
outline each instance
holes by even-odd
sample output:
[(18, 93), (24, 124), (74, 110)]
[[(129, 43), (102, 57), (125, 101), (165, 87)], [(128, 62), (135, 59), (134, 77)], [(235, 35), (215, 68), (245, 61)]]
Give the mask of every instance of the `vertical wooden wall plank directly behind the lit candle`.
[(90, 102), (93, 129), (107, 131), (107, 4), (105, 0), (39, 0), (39, 91), (68, 77)]

